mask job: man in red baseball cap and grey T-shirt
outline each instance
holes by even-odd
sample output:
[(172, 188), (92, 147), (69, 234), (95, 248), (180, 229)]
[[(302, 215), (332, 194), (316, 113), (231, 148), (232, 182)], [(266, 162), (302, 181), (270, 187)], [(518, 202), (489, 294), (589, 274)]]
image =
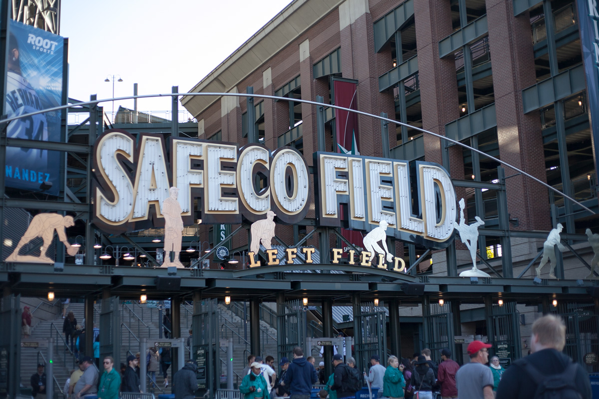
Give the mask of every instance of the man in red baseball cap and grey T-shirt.
[(488, 343), (468, 344), (470, 363), (464, 364), (455, 376), (459, 399), (493, 399), (493, 373), (485, 366), (489, 360)]

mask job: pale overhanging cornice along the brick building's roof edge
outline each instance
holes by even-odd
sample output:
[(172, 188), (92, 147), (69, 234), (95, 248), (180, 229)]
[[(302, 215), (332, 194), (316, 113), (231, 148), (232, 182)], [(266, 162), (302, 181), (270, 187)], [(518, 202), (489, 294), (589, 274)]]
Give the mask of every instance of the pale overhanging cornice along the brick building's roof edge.
[[(294, 0), (277, 16), (199, 81), (192, 93), (231, 91), (259, 66), (298, 38), (302, 32), (337, 9), (343, 0)], [(217, 96), (183, 96), (181, 104), (194, 117), (218, 100)]]

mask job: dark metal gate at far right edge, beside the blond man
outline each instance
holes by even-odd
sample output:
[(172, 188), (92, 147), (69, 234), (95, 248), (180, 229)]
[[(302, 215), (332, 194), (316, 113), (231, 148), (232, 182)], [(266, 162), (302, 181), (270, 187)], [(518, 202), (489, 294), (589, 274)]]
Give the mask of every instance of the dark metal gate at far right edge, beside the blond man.
[(585, 366), (589, 373), (599, 371), (599, 316), (592, 304), (559, 304), (556, 315), (565, 322), (564, 353)]

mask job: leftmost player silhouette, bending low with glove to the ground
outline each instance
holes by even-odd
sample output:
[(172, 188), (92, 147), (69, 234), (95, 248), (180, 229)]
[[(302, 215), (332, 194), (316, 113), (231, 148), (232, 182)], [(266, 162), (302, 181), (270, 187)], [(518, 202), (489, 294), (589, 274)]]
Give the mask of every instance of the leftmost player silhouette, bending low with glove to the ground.
[[(31, 220), (29, 227), (22, 239), (19, 240), (17, 248), (13, 253), (8, 255), (6, 262), (37, 262), (37, 263), (54, 263), (54, 260), (46, 256), (46, 251), (52, 243), (54, 232), (58, 233), (59, 240), (66, 246), (66, 252), (73, 256), (77, 253), (77, 247), (71, 246), (66, 239), (65, 227), (75, 226), (75, 221), (71, 216), (62, 216), (59, 214), (38, 214)], [(19, 251), (23, 245), (33, 240), (34, 238), (42, 237), (44, 245), (41, 247), (40, 256), (19, 255)]]

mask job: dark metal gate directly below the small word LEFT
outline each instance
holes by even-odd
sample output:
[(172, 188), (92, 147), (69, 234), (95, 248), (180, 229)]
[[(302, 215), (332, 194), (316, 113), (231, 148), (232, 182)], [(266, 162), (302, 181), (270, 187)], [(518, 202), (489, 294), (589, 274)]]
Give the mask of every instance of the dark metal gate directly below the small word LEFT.
[(304, 348), (306, 357), (310, 356), (305, 339), (305, 307), (301, 300), (277, 301), (277, 354), (279, 359), (293, 359), (296, 346)]

